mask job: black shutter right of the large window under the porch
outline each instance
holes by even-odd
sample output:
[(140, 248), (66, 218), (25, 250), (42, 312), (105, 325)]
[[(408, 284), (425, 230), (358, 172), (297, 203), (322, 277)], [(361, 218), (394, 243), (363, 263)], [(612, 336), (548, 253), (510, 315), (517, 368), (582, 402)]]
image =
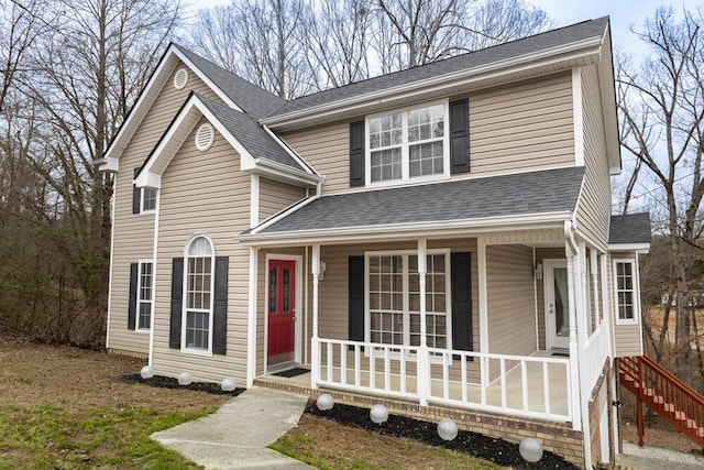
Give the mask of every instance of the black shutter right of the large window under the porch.
[(470, 253), (452, 253), (452, 349), (472, 351), (472, 283)]

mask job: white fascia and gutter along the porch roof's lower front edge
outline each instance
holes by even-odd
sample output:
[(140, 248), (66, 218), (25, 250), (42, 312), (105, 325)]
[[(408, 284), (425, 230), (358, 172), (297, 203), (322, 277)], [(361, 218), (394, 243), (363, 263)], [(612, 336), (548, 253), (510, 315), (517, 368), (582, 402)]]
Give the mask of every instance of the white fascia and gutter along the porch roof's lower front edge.
[[(307, 203), (309, 204), (309, 203)], [(300, 206), (302, 207), (302, 206)], [(297, 210), (299, 207), (296, 207)], [(344, 243), (349, 241), (387, 240), (399, 237), (453, 237), (472, 233), (487, 233), (496, 231), (536, 230), (561, 228), (565, 220), (570, 220), (569, 211), (530, 214), (525, 216), (485, 217), (470, 220), (449, 220), (432, 222), (406, 222), (382, 226), (345, 227), (320, 230), (299, 230), (292, 232), (260, 233), (266, 227), (251, 233), (235, 237), (242, 244), (251, 247), (266, 247), (284, 244), (310, 243)], [(285, 217), (284, 214), (279, 218)], [(275, 223), (271, 221), (267, 226)]]

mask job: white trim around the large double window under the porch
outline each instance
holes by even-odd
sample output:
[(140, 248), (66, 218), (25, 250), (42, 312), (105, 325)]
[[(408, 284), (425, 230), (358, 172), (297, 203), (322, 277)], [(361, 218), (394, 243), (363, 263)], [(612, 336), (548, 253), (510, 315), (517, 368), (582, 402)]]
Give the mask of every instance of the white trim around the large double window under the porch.
[[(447, 346), (448, 351), (452, 351), (452, 277), (451, 277), (451, 250), (432, 249), (427, 250), (426, 255), (430, 254), (443, 254), (444, 255), (444, 269), (446, 269), (446, 329), (447, 329)], [(371, 342), (372, 339), (372, 314), (370, 311), (370, 256), (395, 256), (395, 255), (418, 255), (417, 250), (388, 250), (388, 251), (365, 251), (364, 252), (364, 342)], [(408, 265), (404, 265), (404, 345), (403, 347), (410, 347), (410, 309), (408, 308)], [(426, 311), (427, 314), (427, 311)], [(432, 314), (431, 314), (432, 315)], [(396, 346), (396, 345), (395, 345)], [(398, 345), (402, 347), (402, 345)], [(415, 347), (417, 348), (417, 347)], [(370, 351), (365, 350), (365, 356), (370, 356)], [(398, 359), (400, 354), (393, 352), (392, 358)], [(407, 354), (407, 359), (410, 361), (416, 360), (415, 354)], [(442, 358), (430, 357), (430, 361), (441, 362)]]

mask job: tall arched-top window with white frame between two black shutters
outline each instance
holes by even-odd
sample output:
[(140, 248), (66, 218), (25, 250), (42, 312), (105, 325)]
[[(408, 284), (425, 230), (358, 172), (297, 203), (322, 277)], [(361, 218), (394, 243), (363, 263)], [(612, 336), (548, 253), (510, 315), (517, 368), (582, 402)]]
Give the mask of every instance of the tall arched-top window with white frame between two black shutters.
[(212, 321), (212, 245), (198, 237), (188, 247), (186, 259), (185, 339), (186, 349), (210, 351)]

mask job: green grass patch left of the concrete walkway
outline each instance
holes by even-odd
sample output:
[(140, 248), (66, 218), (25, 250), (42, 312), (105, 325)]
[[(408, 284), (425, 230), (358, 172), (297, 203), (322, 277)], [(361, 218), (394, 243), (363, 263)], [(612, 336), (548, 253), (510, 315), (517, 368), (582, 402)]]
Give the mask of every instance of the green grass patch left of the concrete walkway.
[(196, 419), (213, 408), (175, 413), (120, 405), (0, 407), (0, 469), (196, 469), (150, 439), (154, 431)]

